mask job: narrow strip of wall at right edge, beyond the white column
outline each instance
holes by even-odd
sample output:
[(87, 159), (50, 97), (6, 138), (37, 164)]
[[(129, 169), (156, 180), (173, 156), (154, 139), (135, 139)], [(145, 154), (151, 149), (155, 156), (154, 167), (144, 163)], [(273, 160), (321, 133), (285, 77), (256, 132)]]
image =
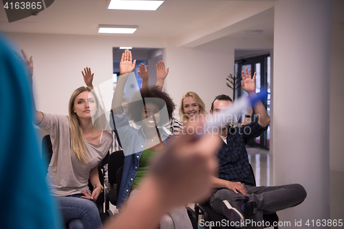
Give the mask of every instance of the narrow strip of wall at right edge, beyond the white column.
[[(343, 219), (344, 212), (344, 1), (332, 1), (330, 54), (330, 212)], [(332, 227), (335, 228), (335, 227)]]

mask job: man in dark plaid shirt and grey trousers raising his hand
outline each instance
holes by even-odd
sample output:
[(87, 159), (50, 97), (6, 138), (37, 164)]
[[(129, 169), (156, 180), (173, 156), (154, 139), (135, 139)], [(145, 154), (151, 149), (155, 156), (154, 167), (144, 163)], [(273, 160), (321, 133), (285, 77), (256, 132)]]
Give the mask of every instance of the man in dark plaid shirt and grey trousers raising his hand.
[[(251, 78), (247, 68), (246, 74), (244, 71), (241, 74), (241, 87), (249, 95), (254, 95), (255, 74)], [(228, 96), (217, 96), (211, 105), (211, 114), (219, 115), (231, 103)], [(261, 223), (264, 214), (297, 206), (307, 195), (300, 184), (255, 186), (245, 145), (266, 131), (270, 117), (260, 101), (254, 108), (258, 117), (255, 122), (241, 127), (226, 126), (219, 130), (219, 136), (224, 142), (217, 153), (219, 171), (217, 177), (213, 177), (216, 190), (210, 204), (215, 212), (233, 222), (235, 228), (264, 228), (264, 223)], [(250, 219), (251, 223), (244, 223), (246, 219)]]

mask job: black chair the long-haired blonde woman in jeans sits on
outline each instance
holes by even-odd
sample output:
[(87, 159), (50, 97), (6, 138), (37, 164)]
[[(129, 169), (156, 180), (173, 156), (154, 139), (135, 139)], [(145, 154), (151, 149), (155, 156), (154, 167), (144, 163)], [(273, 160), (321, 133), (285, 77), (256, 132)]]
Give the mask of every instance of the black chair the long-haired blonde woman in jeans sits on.
[[(50, 139), (50, 135), (45, 135), (42, 139), (42, 158), (43, 160), (45, 160), (46, 164), (46, 170), (50, 164), (50, 161), (52, 160), (52, 141)], [(102, 171), (102, 166), (104, 166), (104, 162), (106, 161), (106, 157), (105, 159), (98, 165), (98, 175), (99, 175), (99, 180), (100, 183), (103, 185), (104, 187), (104, 174)], [(93, 186), (91, 184), (91, 182), (88, 182), (88, 186), (89, 186), (89, 190), (93, 190)], [(100, 219), (103, 221), (105, 221), (109, 216), (112, 216), (112, 212), (111, 210), (107, 209), (104, 212), (104, 203), (105, 203), (105, 193), (102, 192), (100, 193), (100, 195), (98, 196), (97, 200), (96, 200), (96, 206), (99, 210), (99, 215), (100, 215)]]

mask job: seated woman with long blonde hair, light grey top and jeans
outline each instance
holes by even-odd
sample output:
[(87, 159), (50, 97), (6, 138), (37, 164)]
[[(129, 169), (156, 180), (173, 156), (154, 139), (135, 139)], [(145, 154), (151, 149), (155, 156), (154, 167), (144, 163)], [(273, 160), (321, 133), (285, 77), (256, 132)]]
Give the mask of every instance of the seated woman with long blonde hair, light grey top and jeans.
[[(30, 63), (32, 87), (33, 61), (22, 50), (25, 62)], [(33, 96), (32, 96), (33, 98)], [(34, 101), (33, 101), (34, 102)], [(69, 228), (100, 228), (102, 223), (94, 203), (103, 186), (100, 184), (98, 164), (112, 144), (111, 131), (96, 129), (102, 126), (98, 119), (103, 111), (95, 94), (88, 87), (79, 87), (69, 99), (68, 116), (37, 111), (34, 107), (34, 123), (47, 131), (52, 139), (52, 160), (47, 181), (50, 192), (56, 196), (57, 208), (61, 210)], [(94, 187), (92, 193), (88, 183)]]

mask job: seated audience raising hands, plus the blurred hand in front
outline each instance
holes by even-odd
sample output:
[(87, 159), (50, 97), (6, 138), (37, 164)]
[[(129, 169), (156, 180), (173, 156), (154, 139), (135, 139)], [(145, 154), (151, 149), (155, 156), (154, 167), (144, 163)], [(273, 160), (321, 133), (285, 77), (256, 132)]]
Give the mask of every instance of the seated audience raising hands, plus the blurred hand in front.
[[(33, 60), (23, 50), (22, 54), (32, 96)], [(112, 131), (99, 129), (103, 124), (92, 119), (103, 108), (92, 91), (94, 74), (89, 68), (83, 72), (87, 87), (73, 92), (68, 116), (36, 111), (32, 100), (34, 123), (47, 131), (52, 140), (54, 153), (47, 184), (65, 226), (102, 227), (94, 203), (104, 190), (97, 166), (109, 150), (112, 153), (114, 145), (125, 153), (117, 206), (120, 214), (103, 228), (156, 228), (160, 223), (160, 228), (191, 229), (184, 206), (209, 197), (213, 210), (230, 221), (261, 221), (267, 212), (301, 204), (306, 192), (300, 184), (255, 186), (245, 145), (266, 131), (270, 123), (260, 101), (253, 105), (259, 116), (255, 122), (250, 121), (252, 110), (248, 109), (239, 127), (226, 124), (217, 133), (189, 134), (186, 129), (203, 127), (197, 117), (207, 115), (204, 102), (195, 92), (187, 92), (180, 105), (181, 118), (177, 120), (173, 116), (175, 103), (162, 91), (169, 73), (162, 61), (156, 65), (155, 86), (147, 83), (148, 66), (140, 65), (142, 89), (129, 102), (125, 100), (126, 109), (122, 106), (125, 83), (135, 65), (131, 52), (125, 50), (111, 106)], [(251, 77), (247, 69), (242, 72), (241, 87), (254, 96), (255, 74)], [(210, 115), (222, 114), (232, 102), (226, 95), (217, 96)], [(250, 128), (250, 133), (235, 131), (245, 127)], [(88, 182), (94, 187), (92, 192)]]

